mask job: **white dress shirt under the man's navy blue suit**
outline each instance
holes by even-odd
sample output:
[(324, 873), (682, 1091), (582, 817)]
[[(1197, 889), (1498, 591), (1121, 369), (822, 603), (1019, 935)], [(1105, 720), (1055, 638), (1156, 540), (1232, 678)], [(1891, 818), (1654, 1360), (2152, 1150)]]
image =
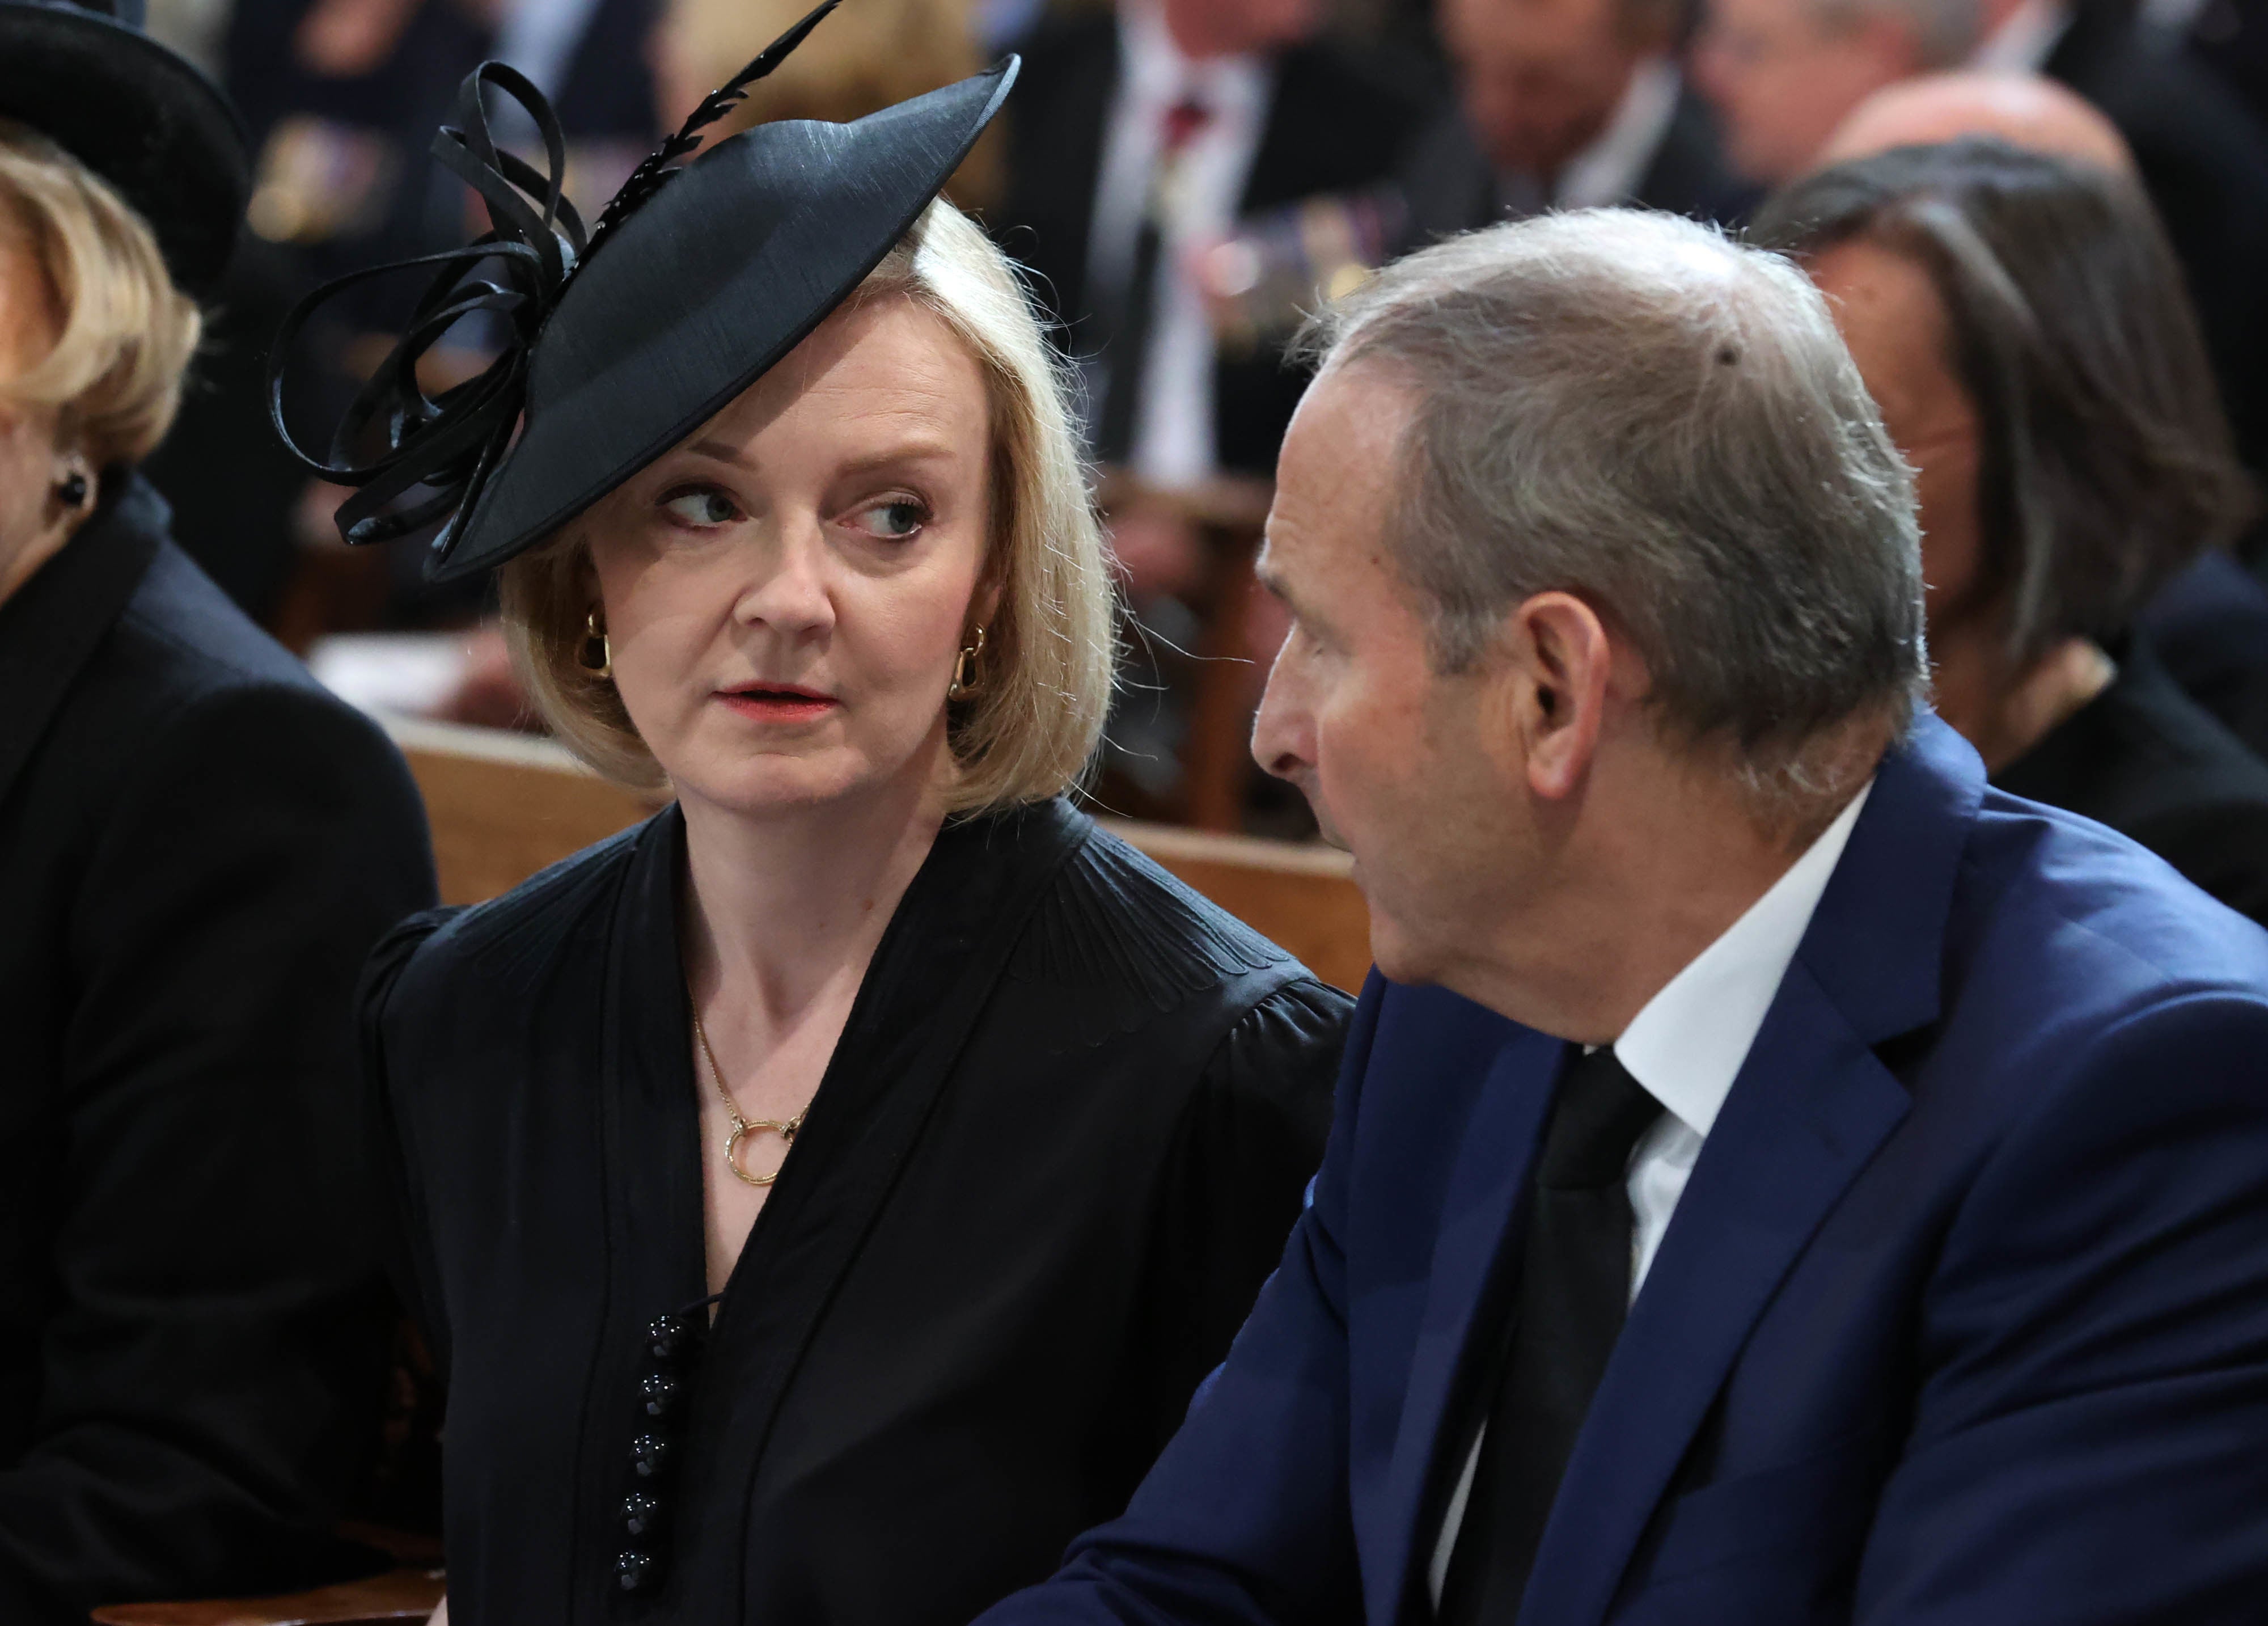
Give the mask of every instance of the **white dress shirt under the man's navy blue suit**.
[[(1701, 1143), (1708, 1141), (1724, 1098), (1733, 1093), (1733, 1079), (1740, 1077), (1749, 1045), (1755, 1043), (1765, 1014), (1780, 993), (1780, 980), (1796, 957), (1796, 946), (1803, 943), (1803, 932), (1828, 889), (1828, 878), (1835, 875), (1835, 864), (1842, 862), (1871, 789), (1869, 780), (1803, 857), (1789, 864), (1787, 873), (1771, 882), (1771, 889), (1715, 943), (1685, 962), (1685, 968), (1647, 1000), (1615, 1041), (1615, 1059), (1665, 1109), (1631, 1152), (1633, 1302), (1669, 1231), (1669, 1216), (1685, 1195)], [(1465, 1522), (1465, 1501), (1479, 1465), (1481, 1433), (1474, 1433), (1440, 1522), (1440, 1538), (1433, 1542), (1433, 1563), (1427, 1567), (1436, 1608), (1440, 1587), (1449, 1578), (1449, 1553), (1456, 1549), (1456, 1531)]]

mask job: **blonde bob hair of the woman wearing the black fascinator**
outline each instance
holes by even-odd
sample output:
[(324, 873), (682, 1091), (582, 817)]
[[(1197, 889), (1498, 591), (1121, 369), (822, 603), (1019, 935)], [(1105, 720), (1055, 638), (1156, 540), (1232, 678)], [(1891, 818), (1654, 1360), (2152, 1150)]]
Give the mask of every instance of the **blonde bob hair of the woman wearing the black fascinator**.
[[(968, 347), (991, 395), (991, 558), (1000, 608), (984, 626), (973, 692), (946, 721), (948, 810), (973, 814), (1057, 796), (1102, 735), (1114, 615), (1102, 533), (1073, 440), (1068, 386), (1007, 256), (939, 200), (850, 297), (912, 299)], [(544, 721), (599, 773), (662, 789), (608, 678), (581, 664), (592, 610), (590, 540), (569, 524), (499, 571), (503, 633)]]

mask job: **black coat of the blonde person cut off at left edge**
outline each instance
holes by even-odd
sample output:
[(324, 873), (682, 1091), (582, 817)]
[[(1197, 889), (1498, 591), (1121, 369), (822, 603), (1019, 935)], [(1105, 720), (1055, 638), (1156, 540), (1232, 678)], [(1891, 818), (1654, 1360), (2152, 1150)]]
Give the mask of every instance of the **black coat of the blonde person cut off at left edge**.
[(367, 1569), (349, 1007), (433, 898), (417, 789), (127, 472), (0, 603), (0, 1621)]

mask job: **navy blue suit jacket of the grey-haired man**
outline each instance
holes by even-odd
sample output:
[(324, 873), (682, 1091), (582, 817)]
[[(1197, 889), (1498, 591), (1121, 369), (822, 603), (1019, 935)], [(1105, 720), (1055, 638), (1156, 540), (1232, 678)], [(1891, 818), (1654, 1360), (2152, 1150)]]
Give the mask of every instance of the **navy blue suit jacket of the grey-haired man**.
[[(1227, 1365), (984, 1626), (1424, 1621), (1563, 1045), (1372, 977)], [(1522, 1626), (2268, 1617), (2268, 934), (1984, 787), (1873, 796), (1576, 1442)]]

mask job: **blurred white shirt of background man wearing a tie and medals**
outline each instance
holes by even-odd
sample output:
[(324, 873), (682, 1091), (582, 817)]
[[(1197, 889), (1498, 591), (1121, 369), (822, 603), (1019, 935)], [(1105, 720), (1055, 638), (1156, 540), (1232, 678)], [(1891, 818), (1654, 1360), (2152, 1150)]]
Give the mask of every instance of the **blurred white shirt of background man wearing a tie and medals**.
[[(1150, 485), (1195, 485), (1216, 472), (1213, 324), (1184, 261), (1193, 245), (1213, 243), (1236, 225), (1272, 91), (1275, 73), (1263, 57), (1191, 61), (1173, 43), (1154, 0), (1118, 7), (1118, 91), (1102, 134), (1086, 245), (1091, 283), (1125, 288), (1134, 277), (1134, 243), (1150, 206), (1166, 113), (1182, 100), (1207, 111), (1166, 195), (1150, 354), (1134, 401), (1127, 465)], [(1100, 410), (1109, 379), (1098, 370), (1086, 388), (1089, 406)]]

